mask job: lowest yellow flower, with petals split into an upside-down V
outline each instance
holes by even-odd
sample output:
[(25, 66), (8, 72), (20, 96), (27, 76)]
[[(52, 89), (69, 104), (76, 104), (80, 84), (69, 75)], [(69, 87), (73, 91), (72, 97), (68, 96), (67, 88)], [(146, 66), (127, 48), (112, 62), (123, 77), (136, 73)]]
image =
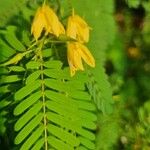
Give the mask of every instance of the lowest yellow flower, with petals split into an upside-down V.
[(95, 60), (86, 46), (79, 42), (67, 43), (67, 57), (71, 76), (77, 70), (84, 70), (82, 59), (91, 67), (95, 67)]

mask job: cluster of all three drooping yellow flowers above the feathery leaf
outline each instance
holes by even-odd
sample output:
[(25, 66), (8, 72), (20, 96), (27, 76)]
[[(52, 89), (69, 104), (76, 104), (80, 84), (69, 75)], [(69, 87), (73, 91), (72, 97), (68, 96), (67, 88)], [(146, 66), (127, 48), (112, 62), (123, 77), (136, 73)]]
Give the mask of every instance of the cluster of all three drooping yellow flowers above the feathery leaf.
[[(65, 34), (65, 29), (57, 15), (46, 4), (43, 4), (37, 10), (31, 27), (31, 33), (38, 40), (43, 30), (45, 30), (45, 35), (50, 33), (58, 37), (60, 34)], [(66, 35), (75, 40), (67, 42), (67, 57), (71, 76), (77, 70), (84, 70), (82, 59), (91, 67), (95, 67), (95, 60), (84, 45), (84, 43), (89, 41), (89, 30), (88, 24), (80, 16), (75, 15), (74, 12), (68, 18)]]

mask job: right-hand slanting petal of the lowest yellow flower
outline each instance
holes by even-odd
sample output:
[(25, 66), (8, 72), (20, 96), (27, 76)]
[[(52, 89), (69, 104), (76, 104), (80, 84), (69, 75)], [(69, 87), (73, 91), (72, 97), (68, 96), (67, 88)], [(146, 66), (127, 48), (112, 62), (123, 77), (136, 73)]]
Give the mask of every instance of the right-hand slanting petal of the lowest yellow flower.
[(92, 54), (90, 53), (90, 51), (88, 50), (88, 48), (86, 46), (84, 46), (81, 43), (79, 44), (79, 48), (78, 51), (82, 57), (82, 59), (91, 67), (95, 67), (95, 59), (92, 56)]

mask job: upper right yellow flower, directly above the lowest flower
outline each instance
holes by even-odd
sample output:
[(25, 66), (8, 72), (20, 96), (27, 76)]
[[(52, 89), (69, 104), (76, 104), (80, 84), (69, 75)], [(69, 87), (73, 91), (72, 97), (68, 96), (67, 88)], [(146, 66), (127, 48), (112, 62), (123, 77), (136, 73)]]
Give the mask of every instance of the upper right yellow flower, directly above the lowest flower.
[(88, 24), (78, 15), (73, 15), (68, 18), (67, 36), (78, 40), (81, 43), (89, 41)]

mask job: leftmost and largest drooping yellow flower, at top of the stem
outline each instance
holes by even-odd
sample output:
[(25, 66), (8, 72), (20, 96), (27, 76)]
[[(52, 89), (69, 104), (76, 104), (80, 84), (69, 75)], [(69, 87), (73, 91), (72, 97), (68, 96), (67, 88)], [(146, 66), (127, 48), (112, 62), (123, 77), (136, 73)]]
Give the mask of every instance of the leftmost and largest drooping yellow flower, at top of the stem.
[(45, 4), (38, 8), (35, 14), (31, 27), (31, 33), (37, 40), (41, 36), (43, 30), (46, 31), (46, 34), (51, 33), (56, 36), (65, 34), (65, 29), (60, 23), (57, 15), (48, 5)]

